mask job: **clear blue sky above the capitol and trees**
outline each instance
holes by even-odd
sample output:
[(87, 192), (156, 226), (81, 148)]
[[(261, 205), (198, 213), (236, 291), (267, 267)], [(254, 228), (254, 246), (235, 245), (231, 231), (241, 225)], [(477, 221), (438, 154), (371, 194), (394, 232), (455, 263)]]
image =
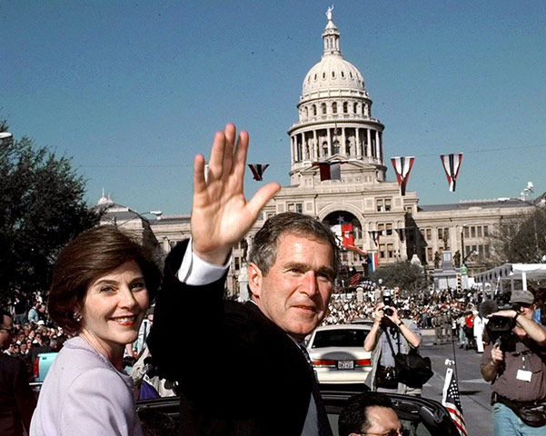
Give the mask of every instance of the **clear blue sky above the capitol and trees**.
[[(72, 156), (89, 203), (104, 187), (138, 212), (189, 213), (193, 156), (226, 122), (249, 132), (249, 162), (271, 164), (264, 182), (286, 185), (331, 4), (1, 0), (0, 117)], [(338, 1), (333, 21), (385, 157), (416, 157), (420, 204), (546, 191), (545, 2)], [(450, 193), (439, 155), (459, 152)]]

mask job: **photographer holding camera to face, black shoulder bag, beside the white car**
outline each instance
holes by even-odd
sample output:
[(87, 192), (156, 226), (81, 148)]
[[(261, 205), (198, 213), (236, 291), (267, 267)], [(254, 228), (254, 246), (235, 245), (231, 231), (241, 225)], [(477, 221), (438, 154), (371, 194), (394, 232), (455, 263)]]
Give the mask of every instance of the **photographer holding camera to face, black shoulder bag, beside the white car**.
[(368, 374), (366, 384), (372, 391), (421, 396), (421, 388), (410, 388), (402, 384), (394, 372), (394, 354), (407, 354), (411, 348), (418, 348), (421, 332), (412, 320), (401, 320), (392, 303), (389, 300), (387, 303), (380, 302), (375, 306), (372, 330), (364, 340), (364, 350), (372, 352), (372, 371)]

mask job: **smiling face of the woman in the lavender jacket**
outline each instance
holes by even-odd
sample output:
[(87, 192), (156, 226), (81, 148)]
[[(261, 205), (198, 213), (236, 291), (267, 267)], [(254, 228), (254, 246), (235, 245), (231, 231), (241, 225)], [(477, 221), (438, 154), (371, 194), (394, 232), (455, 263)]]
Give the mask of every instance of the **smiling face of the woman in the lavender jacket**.
[(123, 263), (89, 285), (85, 293), (80, 336), (109, 360), (123, 357), (134, 342), (148, 307), (143, 273), (134, 261)]

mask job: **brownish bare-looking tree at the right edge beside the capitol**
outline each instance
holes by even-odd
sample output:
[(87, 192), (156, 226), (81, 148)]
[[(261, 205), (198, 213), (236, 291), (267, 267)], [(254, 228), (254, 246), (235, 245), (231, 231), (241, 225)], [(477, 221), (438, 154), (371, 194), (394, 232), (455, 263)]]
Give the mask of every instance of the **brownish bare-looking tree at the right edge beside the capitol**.
[(501, 223), (490, 237), (489, 267), (501, 263), (543, 263), (546, 255), (546, 206)]

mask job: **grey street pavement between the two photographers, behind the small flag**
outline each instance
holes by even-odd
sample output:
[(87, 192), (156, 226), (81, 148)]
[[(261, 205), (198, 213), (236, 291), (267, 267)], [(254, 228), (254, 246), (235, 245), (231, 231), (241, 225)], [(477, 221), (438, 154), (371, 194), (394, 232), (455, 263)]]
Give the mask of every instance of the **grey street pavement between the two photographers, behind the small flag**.
[[(481, 354), (461, 350), (457, 342), (434, 345), (434, 331), (422, 331), (422, 356), (432, 361), (434, 375), (424, 386), (422, 396), (442, 402), (446, 359), (455, 360), (459, 379), (462, 414), (469, 436), (493, 436), (491, 385), (481, 378)], [(453, 346), (454, 345), (454, 346)]]

